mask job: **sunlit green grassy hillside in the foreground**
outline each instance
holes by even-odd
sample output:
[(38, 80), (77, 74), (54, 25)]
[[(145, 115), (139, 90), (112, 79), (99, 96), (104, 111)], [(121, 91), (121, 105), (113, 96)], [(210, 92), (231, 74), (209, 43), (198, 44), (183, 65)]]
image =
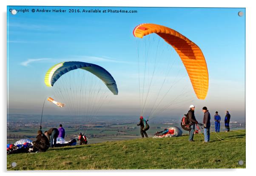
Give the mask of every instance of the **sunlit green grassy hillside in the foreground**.
[(210, 143), (200, 134), (194, 140), (144, 138), (11, 154), (7, 170), (245, 168), (245, 130), (211, 133)]

